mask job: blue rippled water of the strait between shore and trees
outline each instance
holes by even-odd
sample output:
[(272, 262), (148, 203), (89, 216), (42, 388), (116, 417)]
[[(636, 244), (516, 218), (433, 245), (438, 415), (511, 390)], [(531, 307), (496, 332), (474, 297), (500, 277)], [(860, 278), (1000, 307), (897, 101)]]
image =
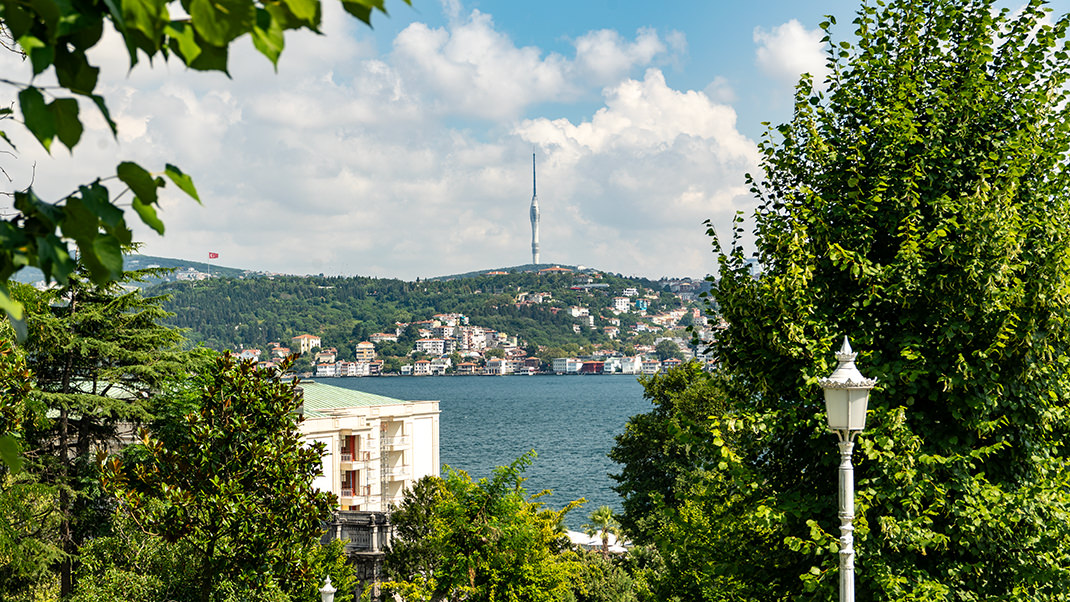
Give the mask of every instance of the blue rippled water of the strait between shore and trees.
[(544, 489), (542, 501), (560, 508), (584, 497), (568, 524), (577, 528), (598, 506), (621, 509), (611, 489), (617, 465), (606, 457), (613, 437), (636, 414), (649, 411), (633, 376), (397, 376), (324, 379), (320, 382), (395, 399), (439, 400), (443, 464), (488, 477), (534, 449), (524, 483)]

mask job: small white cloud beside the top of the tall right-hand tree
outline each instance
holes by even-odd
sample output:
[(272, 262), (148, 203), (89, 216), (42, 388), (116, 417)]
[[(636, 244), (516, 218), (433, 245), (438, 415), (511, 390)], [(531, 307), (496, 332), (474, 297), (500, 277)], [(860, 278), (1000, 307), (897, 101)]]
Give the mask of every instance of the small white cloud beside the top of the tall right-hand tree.
[(766, 74), (794, 86), (799, 76), (809, 73), (821, 86), (828, 70), (825, 67), (825, 45), (820, 29), (808, 30), (792, 19), (770, 31), (754, 28), (758, 44), (758, 65)]

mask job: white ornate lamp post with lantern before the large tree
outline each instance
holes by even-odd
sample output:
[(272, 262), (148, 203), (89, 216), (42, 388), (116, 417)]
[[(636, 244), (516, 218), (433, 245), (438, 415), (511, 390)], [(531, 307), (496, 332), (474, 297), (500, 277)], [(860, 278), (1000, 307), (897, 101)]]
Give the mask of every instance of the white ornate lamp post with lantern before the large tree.
[(847, 337), (836, 354), (839, 365), (827, 379), (817, 381), (825, 389), (828, 428), (836, 431), (840, 447), (840, 602), (855, 602), (855, 467), (851, 453), (855, 435), (866, 428), (869, 391), (876, 379), (862, 376), (855, 367), (858, 354), (851, 351)]

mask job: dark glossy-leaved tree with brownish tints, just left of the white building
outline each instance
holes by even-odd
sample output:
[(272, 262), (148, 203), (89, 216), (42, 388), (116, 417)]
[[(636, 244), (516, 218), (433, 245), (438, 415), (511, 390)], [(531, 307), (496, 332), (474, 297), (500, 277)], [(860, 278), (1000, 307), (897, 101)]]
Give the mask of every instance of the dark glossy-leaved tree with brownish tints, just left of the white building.
[[(105, 488), (138, 523), (190, 547), (199, 598), (219, 581), (302, 587), (301, 552), (315, 543), (334, 497), (312, 487), (323, 446), (303, 444), (297, 382), (220, 355), (177, 400), (187, 412), (166, 438), (142, 443), (103, 466)], [(163, 504), (153, 504), (152, 500)]]

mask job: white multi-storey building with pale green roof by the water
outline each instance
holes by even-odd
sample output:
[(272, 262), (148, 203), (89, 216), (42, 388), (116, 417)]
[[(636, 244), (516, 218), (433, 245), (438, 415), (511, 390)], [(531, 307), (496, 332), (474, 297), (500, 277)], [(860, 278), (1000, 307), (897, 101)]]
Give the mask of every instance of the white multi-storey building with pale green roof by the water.
[(303, 382), (308, 443), (322, 442), (323, 475), (314, 485), (340, 510), (385, 511), (422, 477), (439, 475), (439, 402), (402, 401)]

